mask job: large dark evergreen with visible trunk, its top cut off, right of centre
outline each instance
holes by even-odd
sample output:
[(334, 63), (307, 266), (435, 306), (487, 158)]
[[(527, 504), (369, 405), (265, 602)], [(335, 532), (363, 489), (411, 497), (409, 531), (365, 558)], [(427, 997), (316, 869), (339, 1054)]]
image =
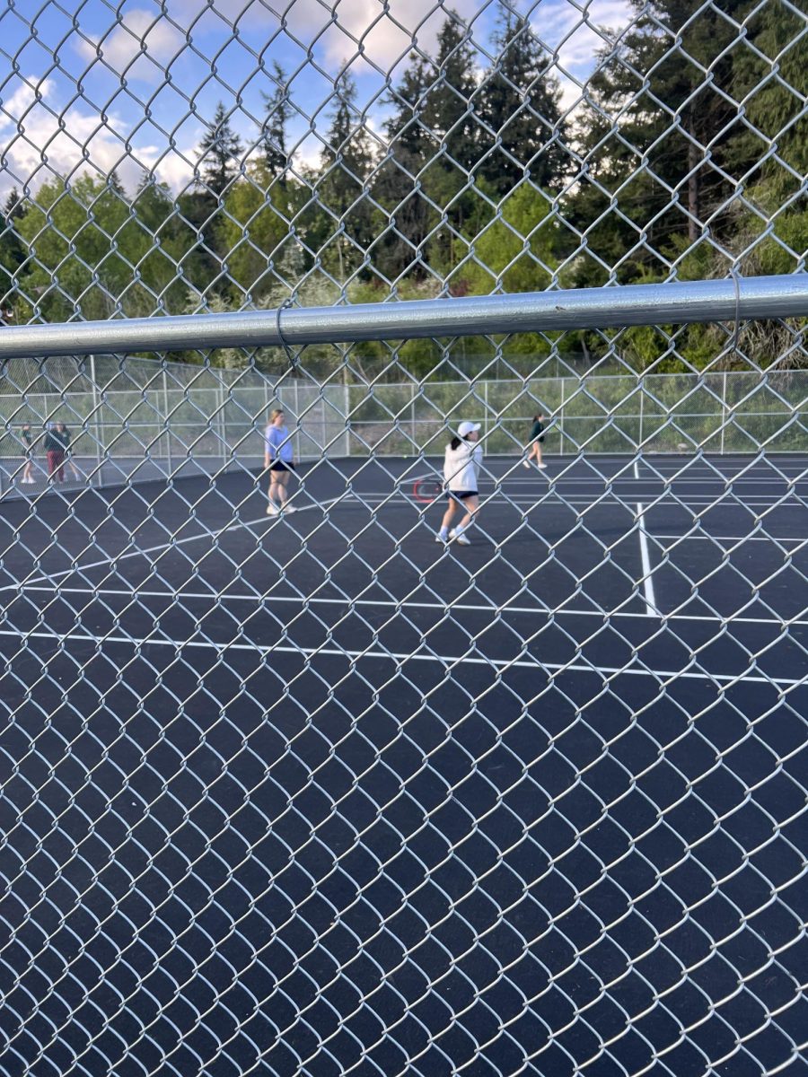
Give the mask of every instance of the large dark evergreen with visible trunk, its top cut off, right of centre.
[[(739, 154), (732, 98), (737, 29), (699, 0), (632, 0), (636, 20), (589, 82), (593, 108), (579, 129), (582, 169), (569, 215), (587, 232), (582, 283), (667, 276), (752, 163)], [(742, 19), (747, 0), (723, 0)], [(698, 13), (698, 17), (695, 17)], [(681, 41), (673, 48), (674, 41)], [(706, 72), (709, 72), (709, 76)]]

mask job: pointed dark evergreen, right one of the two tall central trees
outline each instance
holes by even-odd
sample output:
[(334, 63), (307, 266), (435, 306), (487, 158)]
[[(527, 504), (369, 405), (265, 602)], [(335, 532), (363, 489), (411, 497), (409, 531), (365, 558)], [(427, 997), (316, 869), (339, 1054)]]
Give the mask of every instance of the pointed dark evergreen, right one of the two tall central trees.
[(566, 164), (566, 131), (547, 58), (527, 19), (511, 9), (494, 42), (499, 55), (479, 93), (478, 111), (488, 128), (480, 140), (489, 155), (478, 171), (500, 195), (524, 178), (555, 186)]

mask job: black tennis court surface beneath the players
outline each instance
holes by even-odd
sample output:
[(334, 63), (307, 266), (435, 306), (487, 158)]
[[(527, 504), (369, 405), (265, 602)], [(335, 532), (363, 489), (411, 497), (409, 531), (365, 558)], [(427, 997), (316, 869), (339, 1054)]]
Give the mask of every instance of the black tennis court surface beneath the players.
[(808, 461), (0, 504), (3, 1073), (804, 1072)]

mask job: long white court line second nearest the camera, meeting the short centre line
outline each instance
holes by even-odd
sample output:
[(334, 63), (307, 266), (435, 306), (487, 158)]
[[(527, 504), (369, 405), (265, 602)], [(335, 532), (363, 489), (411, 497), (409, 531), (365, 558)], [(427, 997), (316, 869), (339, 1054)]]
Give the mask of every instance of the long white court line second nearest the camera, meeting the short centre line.
[[(217, 605), (226, 606), (228, 602), (253, 602), (253, 603), (266, 603), (270, 606), (273, 603), (279, 602), (293, 602), (299, 605), (302, 609), (309, 605), (340, 605), (349, 607), (361, 607), (361, 606), (372, 606), (380, 609), (392, 609), (401, 610), (405, 607), (406, 610), (435, 610), (440, 613), (496, 613), (496, 614), (528, 614), (531, 617), (544, 616), (544, 617), (598, 617), (601, 619), (612, 620), (615, 617), (622, 618), (632, 618), (649, 616), (646, 612), (643, 613), (632, 613), (629, 610), (542, 610), (541, 606), (517, 606), (517, 605), (485, 605), (483, 603), (472, 603), (472, 602), (412, 602), (412, 601), (399, 601), (396, 599), (324, 599), (324, 598), (297, 598), (293, 595), (222, 595), (221, 592), (214, 591), (147, 591), (139, 587), (135, 588), (113, 588), (113, 587), (60, 587), (58, 584), (56, 587), (42, 587), (34, 586), (32, 584), (22, 584), (20, 590), (26, 591), (43, 591), (46, 595), (92, 595), (97, 598), (103, 598), (106, 595), (115, 595), (120, 598), (158, 598), (158, 599), (169, 599), (172, 601), (184, 601), (185, 599), (207, 599), (208, 601), (215, 602)], [(250, 615), (252, 616), (252, 615)], [(706, 621), (707, 624), (719, 623), (721, 625), (780, 625), (782, 627), (791, 626), (808, 626), (808, 620), (797, 620), (792, 617), (719, 617), (718, 615), (709, 617), (706, 614), (687, 614), (687, 613), (673, 613), (673, 614), (656, 614), (657, 620), (693, 620), (693, 621)]]

